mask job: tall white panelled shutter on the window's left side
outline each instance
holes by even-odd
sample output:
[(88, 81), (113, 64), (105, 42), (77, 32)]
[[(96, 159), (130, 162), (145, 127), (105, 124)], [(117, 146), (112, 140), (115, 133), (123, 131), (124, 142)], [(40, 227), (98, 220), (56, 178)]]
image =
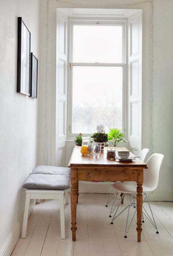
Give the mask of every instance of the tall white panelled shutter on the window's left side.
[(68, 17), (58, 9), (56, 14), (56, 166), (65, 166)]

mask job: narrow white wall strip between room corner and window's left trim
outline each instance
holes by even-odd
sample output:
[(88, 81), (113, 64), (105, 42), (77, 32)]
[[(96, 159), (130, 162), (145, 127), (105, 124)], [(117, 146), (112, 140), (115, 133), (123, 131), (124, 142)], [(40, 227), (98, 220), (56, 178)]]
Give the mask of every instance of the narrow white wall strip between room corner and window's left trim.
[(40, 0), (40, 65), (39, 101), (38, 101), (38, 164), (47, 165), (48, 143), (48, 5), (47, 0)]

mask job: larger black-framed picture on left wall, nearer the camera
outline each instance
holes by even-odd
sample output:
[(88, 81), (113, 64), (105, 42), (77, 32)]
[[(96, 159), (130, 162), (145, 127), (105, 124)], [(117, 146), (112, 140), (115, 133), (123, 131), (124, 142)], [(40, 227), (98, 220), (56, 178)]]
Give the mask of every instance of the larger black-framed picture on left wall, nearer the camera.
[(30, 94), (30, 44), (31, 33), (22, 18), (18, 17), (17, 92), (25, 95)]

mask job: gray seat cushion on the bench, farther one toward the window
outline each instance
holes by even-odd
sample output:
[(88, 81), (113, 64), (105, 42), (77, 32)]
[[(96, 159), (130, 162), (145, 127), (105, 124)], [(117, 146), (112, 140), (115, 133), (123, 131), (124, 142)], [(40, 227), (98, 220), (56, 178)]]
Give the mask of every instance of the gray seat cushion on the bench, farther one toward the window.
[(59, 174), (69, 176), (70, 173), (70, 168), (38, 165), (33, 169), (31, 174)]

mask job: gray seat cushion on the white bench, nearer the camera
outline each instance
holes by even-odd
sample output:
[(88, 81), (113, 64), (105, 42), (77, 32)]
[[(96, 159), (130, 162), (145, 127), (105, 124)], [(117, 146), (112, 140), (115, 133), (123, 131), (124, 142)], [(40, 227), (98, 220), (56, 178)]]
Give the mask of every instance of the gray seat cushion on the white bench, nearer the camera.
[(32, 174), (22, 186), (25, 189), (69, 189), (70, 173), (58, 174)]

